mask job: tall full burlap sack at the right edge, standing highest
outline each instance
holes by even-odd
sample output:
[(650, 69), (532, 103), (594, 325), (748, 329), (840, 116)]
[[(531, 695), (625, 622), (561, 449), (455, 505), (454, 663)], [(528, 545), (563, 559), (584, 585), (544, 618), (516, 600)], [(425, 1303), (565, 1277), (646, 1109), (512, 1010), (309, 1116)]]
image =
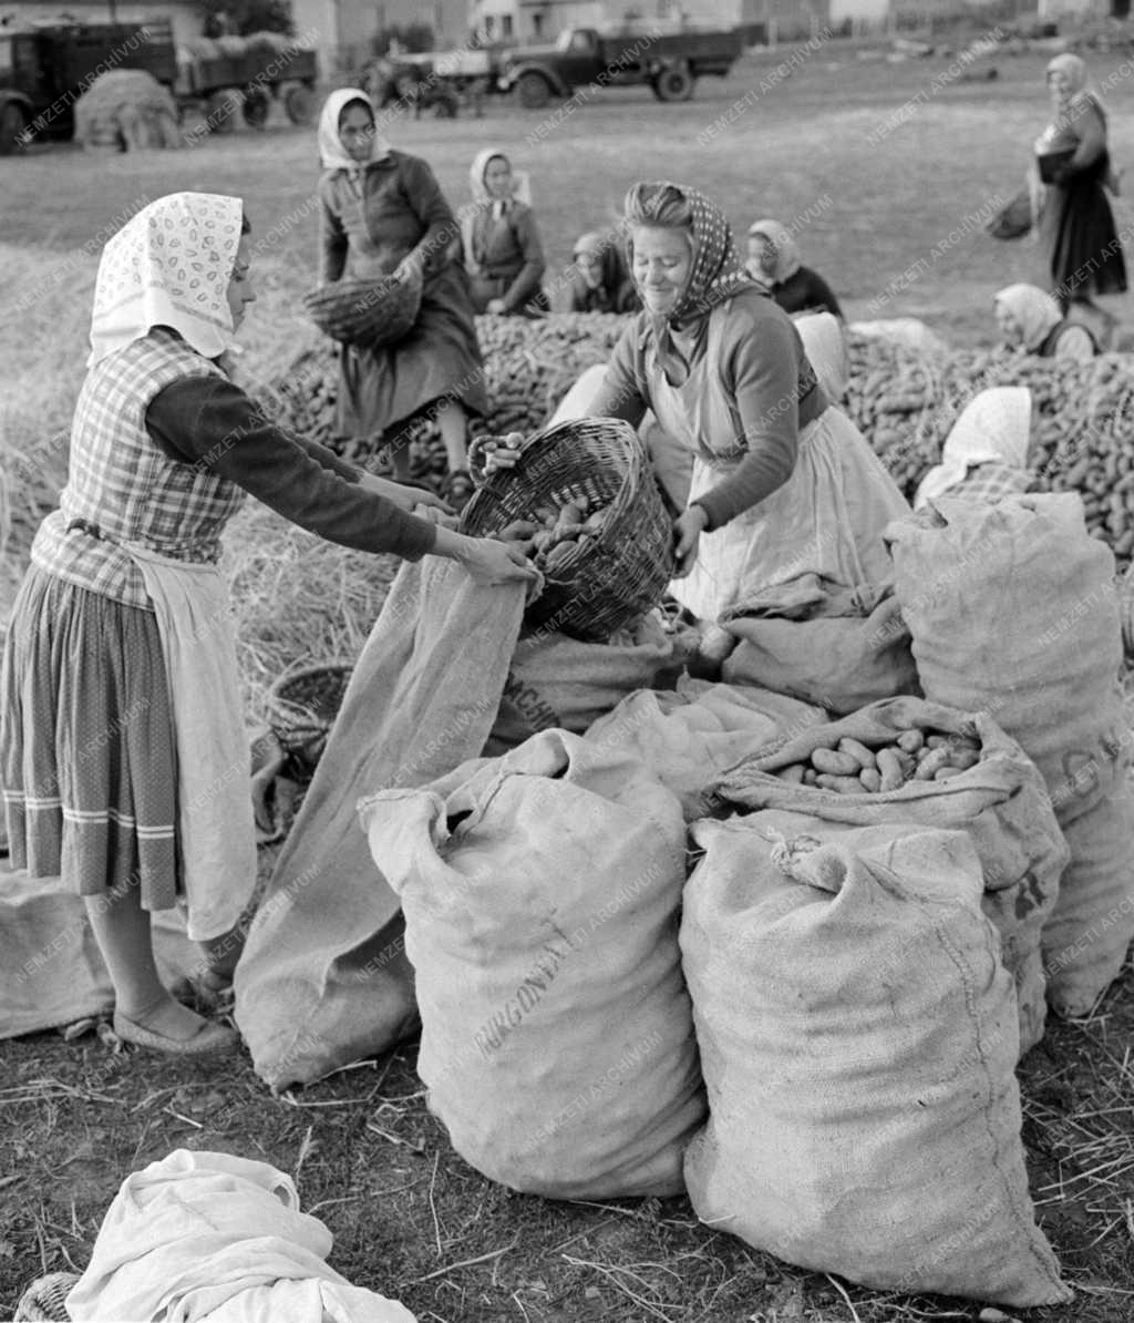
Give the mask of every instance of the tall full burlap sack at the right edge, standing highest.
[(1130, 767), (1114, 557), (1088, 534), (1075, 493), (929, 509), (887, 531), (926, 697), (987, 712), (1018, 740), (1064, 832), (1100, 814), (1071, 833), (1044, 935), (1052, 1005), (1085, 1013), (1134, 937), (1134, 836), (1129, 812), (1109, 806)]

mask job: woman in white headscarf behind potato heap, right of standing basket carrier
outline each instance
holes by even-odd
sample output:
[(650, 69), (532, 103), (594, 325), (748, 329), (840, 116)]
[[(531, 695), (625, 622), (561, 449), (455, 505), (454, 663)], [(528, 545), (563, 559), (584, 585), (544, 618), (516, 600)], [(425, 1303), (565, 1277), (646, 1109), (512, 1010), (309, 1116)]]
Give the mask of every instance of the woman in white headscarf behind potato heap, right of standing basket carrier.
[(469, 168), (471, 206), (461, 212), (461, 247), (473, 310), (496, 316), (542, 316), (539, 282), (547, 263), (525, 172), (513, 172), (498, 147), (477, 152)]

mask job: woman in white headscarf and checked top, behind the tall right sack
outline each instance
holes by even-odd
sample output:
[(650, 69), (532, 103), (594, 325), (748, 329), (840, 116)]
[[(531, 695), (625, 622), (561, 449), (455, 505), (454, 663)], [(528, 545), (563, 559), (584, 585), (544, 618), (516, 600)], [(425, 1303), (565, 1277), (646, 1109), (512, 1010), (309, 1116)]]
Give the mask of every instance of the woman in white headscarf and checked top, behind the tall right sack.
[(1032, 480), (1031, 417), (1027, 386), (994, 386), (974, 396), (941, 447), (941, 463), (921, 479), (913, 508), (938, 496), (994, 504), (1026, 492)]

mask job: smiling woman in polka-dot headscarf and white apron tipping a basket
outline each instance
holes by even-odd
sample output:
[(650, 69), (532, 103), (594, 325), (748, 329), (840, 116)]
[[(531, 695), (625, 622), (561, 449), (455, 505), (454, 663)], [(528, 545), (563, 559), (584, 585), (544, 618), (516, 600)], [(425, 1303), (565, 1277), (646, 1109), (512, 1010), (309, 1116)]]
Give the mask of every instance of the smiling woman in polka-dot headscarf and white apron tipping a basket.
[[(882, 531), (909, 505), (825, 396), (792, 319), (745, 273), (724, 214), (662, 181), (630, 188), (624, 221), (644, 310), (583, 411), (637, 426), (650, 409), (693, 458), (673, 595), (714, 622), (809, 573), (888, 579)], [(485, 468), (510, 467), (521, 441), (504, 438)]]

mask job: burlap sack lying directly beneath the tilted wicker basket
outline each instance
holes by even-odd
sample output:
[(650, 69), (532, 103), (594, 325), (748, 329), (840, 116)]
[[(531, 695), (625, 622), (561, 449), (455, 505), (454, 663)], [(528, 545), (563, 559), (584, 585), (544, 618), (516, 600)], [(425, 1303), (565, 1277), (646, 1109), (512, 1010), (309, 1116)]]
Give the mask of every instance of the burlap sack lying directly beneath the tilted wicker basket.
[(653, 613), (608, 643), (543, 631), (521, 638), (485, 755), (500, 757), (541, 730), (583, 734), (626, 695), (673, 688), (694, 648), (693, 635), (667, 634)]

